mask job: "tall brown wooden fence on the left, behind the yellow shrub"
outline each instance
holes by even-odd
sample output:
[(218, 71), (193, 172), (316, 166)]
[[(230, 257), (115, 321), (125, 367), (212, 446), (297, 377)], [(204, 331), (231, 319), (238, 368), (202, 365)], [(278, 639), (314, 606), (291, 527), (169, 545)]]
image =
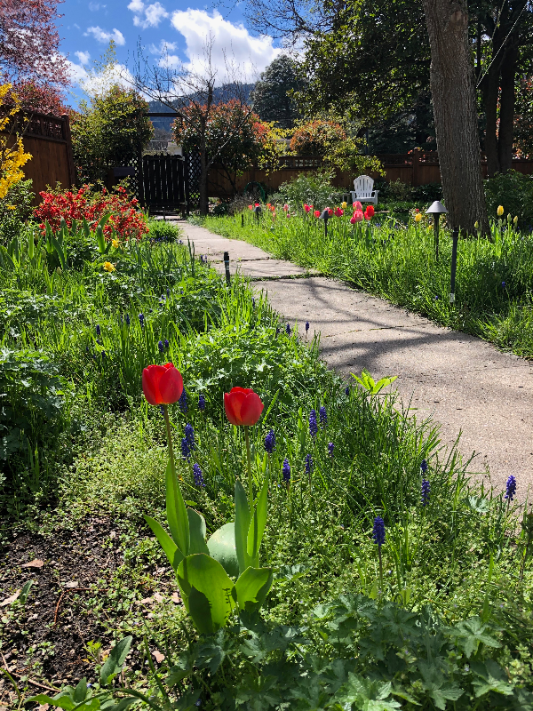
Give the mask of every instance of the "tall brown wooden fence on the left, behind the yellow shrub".
[(62, 188), (76, 185), (76, 170), (72, 157), (72, 140), (68, 115), (32, 114), (24, 128), (22, 143), (31, 160), (22, 167), (25, 180), (33, 180), (34, 204), (41, 202), (39, 193), (60, 182)]

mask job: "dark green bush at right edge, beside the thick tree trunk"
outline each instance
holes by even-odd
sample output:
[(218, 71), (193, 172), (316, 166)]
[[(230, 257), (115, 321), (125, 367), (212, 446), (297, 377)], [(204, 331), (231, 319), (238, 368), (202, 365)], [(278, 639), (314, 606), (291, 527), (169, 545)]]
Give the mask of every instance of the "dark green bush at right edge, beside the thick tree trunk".
[(498, 205), (504, 214), (518, 217), (521, 229), (533, 229), (533, 175), (509, 171), (485, 180), (485, 198), (489, 216), (496, 219)]

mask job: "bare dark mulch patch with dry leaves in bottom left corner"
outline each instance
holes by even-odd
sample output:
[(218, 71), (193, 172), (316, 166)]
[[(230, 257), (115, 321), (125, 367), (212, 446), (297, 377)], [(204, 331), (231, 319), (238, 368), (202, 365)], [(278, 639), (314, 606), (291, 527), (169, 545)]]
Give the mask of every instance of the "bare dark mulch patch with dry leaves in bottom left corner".
[[(112, 640), (88, 603), (105, 596), (107, 580), (122, 563), (111, 519), (89, 518), (77, 531), (47, 536), (12, 535), (0, 563), (0, 667), (20, 688), (47, 693), (84, 676), (93, 680), (95, 662), (86, 645), (100, 642), (105, 651)], [(27, 603), (5, 603), (28, 580), (34, 584)], [(0, 709), (13, 700), (12, 683), (2, 675)]]

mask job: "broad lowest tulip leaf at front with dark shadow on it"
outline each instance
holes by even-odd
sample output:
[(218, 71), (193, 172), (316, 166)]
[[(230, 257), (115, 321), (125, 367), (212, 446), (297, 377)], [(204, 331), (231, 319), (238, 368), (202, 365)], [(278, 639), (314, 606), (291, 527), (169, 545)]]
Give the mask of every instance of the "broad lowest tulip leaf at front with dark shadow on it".
[(188, 555), (179, 563), (176, 575), (195, 627), (204, 634), (224, 627), (235, 606), (234, 582), (220, 563), (203, 553)]

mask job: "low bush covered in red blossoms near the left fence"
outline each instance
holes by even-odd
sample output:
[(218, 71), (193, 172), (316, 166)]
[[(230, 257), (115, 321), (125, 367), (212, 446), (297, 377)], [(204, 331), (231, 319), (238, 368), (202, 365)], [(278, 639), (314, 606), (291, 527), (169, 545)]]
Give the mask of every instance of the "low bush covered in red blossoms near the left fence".
[(104, 227), (104, 236), (111, 239), (114, 231), (121, 239), (140, 239), (147, 234), (147, 222), (139, 212), (139, 202), (136, 198), (130, 200), (126, 190), (121, 186), (116, 192), (109, 193), (106, 188), (99, 192), (91, 192), (84, 185), (77, 192), (73, 190), (52, 190), (39, 194), (43, 203), (34, 212), (39, 227), (44, 232), (44, 222), (47, 220), (53, 230), (60, 228), (63, 218), (70, 228), (72, 220), (87, 220), (90, 228), (95, 228), (103, 215), (111, 213)]

